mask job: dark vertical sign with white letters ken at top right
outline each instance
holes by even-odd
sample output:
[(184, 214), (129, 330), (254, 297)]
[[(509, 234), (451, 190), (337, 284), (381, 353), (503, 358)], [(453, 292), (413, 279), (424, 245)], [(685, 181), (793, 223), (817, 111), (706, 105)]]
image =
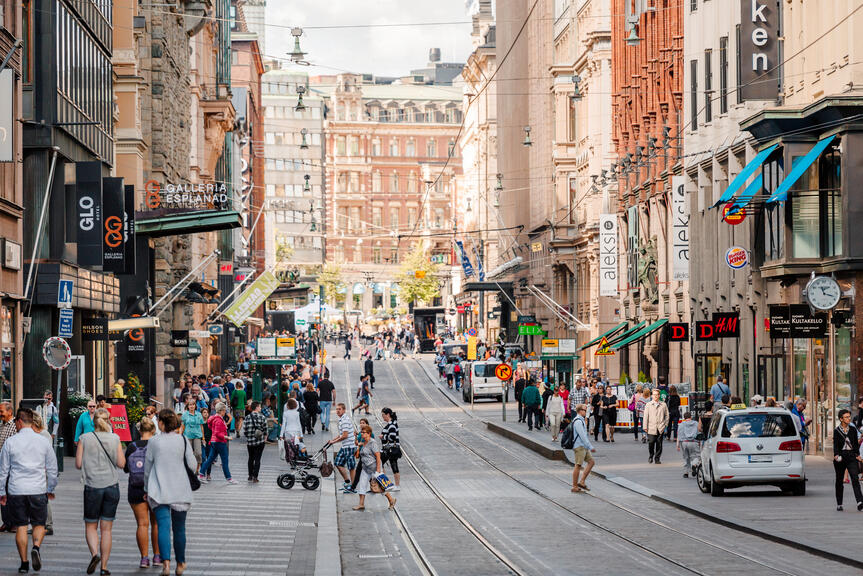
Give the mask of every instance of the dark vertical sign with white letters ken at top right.
[(774, 100), (779, 91), (779, 12), (775, 0), (740, 0), (737, 69), (741, 100)]

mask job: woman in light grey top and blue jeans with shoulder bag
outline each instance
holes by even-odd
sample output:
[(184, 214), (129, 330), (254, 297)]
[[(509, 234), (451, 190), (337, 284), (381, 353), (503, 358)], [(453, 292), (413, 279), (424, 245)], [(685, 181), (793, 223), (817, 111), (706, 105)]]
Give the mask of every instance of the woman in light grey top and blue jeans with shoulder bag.
[(192, 507), (187, 470), (195, 469), (195, 456), (189, 441), (177, 433), (180, 420), (173, 411), (159, 412), (159, 427), (162, 433), (150, 440), (144, 460), (147, 502), (159, 526), (161, 576), (171, 572), (172, 541), (176, 574), (181, 575), (186, 570), (186, 515)]

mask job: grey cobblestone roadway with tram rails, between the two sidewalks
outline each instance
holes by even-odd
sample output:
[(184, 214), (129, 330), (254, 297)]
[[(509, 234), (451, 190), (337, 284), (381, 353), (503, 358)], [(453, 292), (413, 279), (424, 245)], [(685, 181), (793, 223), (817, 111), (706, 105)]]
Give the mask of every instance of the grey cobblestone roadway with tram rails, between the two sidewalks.
[[(335, 363), (341, 381), (360, 365)], [(348, 374), (346, 374), (348, 372)], [(402, 445), (436, 491), (495, 553), (454, 521), (405, 460), (398, 508), (438, 574), (805, 574), (848, 568), (681, 512), (599, 478), (591, 494), (569, 492), (571, 467), (490, 434), (453, 405), (414, 361), (375, 364), (373, 414), (399, 414)], [(499, 410), (499, 404), (497, 404)], [(379, 424), (373, 421), (373, 427)], [(355, 498), (355, 497), (354, 497)], [(339, 496), (345, 574), (414, 573), (407, 541), (384, 512), (350, 510)], [(350, 504), (353, 505), (354, 501)], [(358, 518), (360, 525), (357, 526)], [(351, 529), (345, 528), (350, 525)], [(374, 528), (372, 528), (374, 526)], [(386, 530), (382, 530), (386, 527)], [(383, 536), (382, 536), (383, 535)], [(355, 546), (377, 550), (369, 561)], [(511, 562), (503, 566), (497, 555)], [(412, 556), (416, 557), (416, 551)], [(351, 557), (350, 562), (348, 558)], [(409, 569), (410, 568), (410, 569)]]

